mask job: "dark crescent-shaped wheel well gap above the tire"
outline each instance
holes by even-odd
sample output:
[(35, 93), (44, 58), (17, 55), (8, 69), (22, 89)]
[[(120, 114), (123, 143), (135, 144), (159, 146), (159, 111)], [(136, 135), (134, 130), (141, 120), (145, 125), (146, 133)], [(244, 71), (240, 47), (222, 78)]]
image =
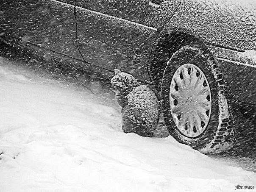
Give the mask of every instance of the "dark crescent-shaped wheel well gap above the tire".
[(191, 44), (203, 45), (203, 42), (182, 31), (164, 31), (157, 39), (150, 56), (148, 70), (158, 92), (161, 89), (160, 84), (167, 61), (181, 47)]

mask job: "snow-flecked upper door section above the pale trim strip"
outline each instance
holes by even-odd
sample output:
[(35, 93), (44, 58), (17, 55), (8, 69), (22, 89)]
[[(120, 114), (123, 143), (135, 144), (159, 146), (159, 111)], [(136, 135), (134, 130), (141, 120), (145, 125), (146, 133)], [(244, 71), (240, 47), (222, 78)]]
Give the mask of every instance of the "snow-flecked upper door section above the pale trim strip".
[[(74, 5), (71, 0), (60, 0)], [(180, 0), (159, 1), (159, 7), (150, 0), (76, 0), (76, 5), (99, 13), (127, 19), (153, 28), (161, 28), (175, 13)]]

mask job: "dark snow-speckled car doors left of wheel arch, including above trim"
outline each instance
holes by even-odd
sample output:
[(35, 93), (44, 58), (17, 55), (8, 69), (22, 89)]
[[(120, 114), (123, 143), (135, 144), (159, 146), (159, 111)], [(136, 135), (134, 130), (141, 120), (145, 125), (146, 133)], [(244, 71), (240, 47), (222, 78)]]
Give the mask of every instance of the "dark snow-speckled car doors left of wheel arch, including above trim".
[(178, 6), (175, 0), (167, 3), (171, 6), (148, 0), (8, 0), (0, 7), (0, 30), (47, 61), (119, 68), (148, 80), (152, 43)]

